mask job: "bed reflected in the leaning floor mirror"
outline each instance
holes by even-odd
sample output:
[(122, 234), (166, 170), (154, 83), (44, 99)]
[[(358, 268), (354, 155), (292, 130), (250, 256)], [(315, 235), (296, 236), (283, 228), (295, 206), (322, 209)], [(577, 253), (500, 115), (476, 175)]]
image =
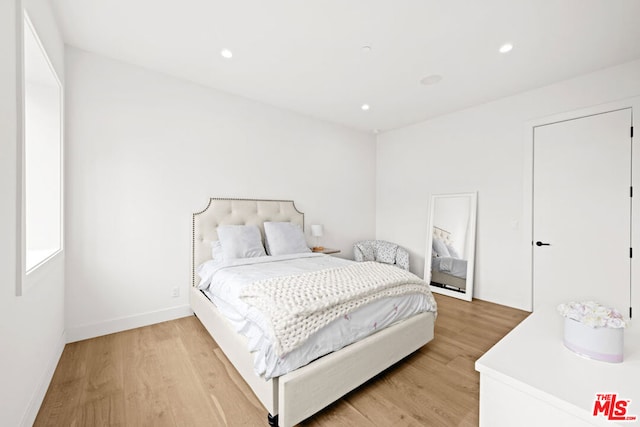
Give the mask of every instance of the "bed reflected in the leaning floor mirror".
[[(448, 248), (443, 253), (438, 249)], [(433, 227), (433, 257), (431, 259), (431, 284), (448, 288), (455, 288), (464, 292), (467, 285), (467, 260), (452, 255), (451, 233), (440, 227)]]

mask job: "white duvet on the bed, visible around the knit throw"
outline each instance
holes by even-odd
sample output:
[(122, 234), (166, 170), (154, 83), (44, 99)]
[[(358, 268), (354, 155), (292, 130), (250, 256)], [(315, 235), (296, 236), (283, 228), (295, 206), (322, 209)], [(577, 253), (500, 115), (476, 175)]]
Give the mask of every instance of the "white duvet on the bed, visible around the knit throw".
[(301, 347), (278, 357), (270, 334), (265, 332), (270, 330), (267, 319), (261, 311), (240, 299), (241, 290), (256, 280), (339, 267), (350, 262), (353, 261), (315, 253), (208, 261), (198, 268), (199, 288), (235, 329), (247, 337), (249, 350), (255, 353), (255, 372), (269, 379), (339, 350), (398, 320), (435, 310), (425, 295), (384, 298), (334, 320)]

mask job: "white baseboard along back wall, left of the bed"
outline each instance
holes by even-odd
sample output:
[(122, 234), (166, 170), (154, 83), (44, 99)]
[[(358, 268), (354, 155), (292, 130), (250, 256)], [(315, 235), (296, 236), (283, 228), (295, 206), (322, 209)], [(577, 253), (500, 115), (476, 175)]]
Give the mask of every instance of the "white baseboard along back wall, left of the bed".
[(191, 316), (192, 314), (193, 311), (191, 311), (189, 305), (185, 304), (164, 310), (67, 328), (67, 343), (113, 334), (128, 329), (140, 328), (142, 326), (153, 325), (154, 323), (166, 322), (167, 320), (179, 319), (180, 317)]

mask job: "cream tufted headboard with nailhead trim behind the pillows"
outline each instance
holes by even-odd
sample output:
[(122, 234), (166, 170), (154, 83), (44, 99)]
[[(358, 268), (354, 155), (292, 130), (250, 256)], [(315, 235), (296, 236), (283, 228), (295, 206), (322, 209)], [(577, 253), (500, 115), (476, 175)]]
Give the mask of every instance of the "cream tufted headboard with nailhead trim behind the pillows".
[(290, 221), (304, 230), (304, 214), (292, 200), (220, 199), (193, 214), (191, 284), (196, 285), (196, 267), (211, 259), (211, 242), (218, 240), (219, 225), (257, 225), (264, 241), (265, 221)]

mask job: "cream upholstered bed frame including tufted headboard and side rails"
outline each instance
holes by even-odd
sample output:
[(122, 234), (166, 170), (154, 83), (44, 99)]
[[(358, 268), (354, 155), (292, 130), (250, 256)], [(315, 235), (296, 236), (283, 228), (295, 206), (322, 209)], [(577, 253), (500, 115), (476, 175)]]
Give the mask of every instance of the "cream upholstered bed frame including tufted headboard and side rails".
[(434, 313), (421, 313), (278, 378), (253, 370), (246, 338), (237, 334), (196, 287), (195, 268), (211, 258), (211, 242), (223, 224), (291, 221), (304, 228), (304, 214), (289, 200), (211, 198), (193, 214), (191, 308), (267, 409), (270, 425), (293, 426), (344, 396), (433, 339)]

